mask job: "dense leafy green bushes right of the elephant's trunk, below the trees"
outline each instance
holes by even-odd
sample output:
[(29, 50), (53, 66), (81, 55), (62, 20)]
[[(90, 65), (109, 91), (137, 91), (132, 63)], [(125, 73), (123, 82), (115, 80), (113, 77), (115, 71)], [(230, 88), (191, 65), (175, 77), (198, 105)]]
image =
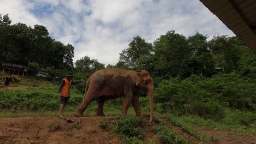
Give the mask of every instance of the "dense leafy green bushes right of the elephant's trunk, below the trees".
[(211, 78), (195, 75), (185, 80), (171, 78), (155, 89), (155, 109), (222, 119), (226, 107), (253, 111), (255, 87), (253, 81), (236, 73)]

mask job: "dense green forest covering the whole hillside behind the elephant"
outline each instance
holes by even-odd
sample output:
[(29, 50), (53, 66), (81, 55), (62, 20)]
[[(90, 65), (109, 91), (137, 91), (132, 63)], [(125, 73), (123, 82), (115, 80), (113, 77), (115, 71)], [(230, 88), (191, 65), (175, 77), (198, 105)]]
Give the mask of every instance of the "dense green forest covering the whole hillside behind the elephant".
[[(76, 79), (87, 79), (105, 68), (88, 56), (73, 63), (75, 47), (51, 38), (44, 26), (11, 24), (8, 14), (0, 15), (0, 48), (0, 62), (29, 65), (30, 74), (40, 70), (63, 77), (73, 71)], [(210, 39), (196, 32), (187, 38), (168, 31), (148, 43), (137, 36), (117, 64), (106, 68), (148, 70), (154, 79), (154, 109), (160, 113), (218, 121), (232, 115), (236, 119), (230, 122), (245, 125), (256, 121), (256, 56), (237, 37)], [(84, 87), (75, 86), (81, 94)]]

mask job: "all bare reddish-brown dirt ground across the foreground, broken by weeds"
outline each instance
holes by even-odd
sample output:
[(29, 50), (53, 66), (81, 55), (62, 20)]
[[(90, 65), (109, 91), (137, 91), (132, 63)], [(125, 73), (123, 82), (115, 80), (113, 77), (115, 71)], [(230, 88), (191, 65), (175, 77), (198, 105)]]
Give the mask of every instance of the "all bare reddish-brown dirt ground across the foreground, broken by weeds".
[[(123, 143), (117, 135), (99, 127), (101, 122), (115, 119), (113, 116), (71, 118), (75, 122), (67, 122), (57, 117), (0, 118), (0, 143)], [(161, 119), (190, 143), (200, 142), (166, 119)], [(148, 123), (144, 127), (146, 136), (143, 141), (149, 142), (149, 139), (153, 139), (155, 143), (160, 143), (153, 131), (154, 124)], [(206, 143), (256, 143), (255, 135), (200, 128), (196, 130), (207, 134), (209, 139), (211, 136), (218, 137), (218, 141), (208, 140)]]

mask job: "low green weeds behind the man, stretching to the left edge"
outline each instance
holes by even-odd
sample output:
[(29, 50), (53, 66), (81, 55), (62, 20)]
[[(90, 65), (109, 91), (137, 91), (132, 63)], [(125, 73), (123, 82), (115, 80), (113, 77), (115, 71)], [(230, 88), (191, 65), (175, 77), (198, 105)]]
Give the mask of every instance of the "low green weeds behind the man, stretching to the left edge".
[[(57, 93), (53, 92), (0, 91), (0, 95), (0, 109), (11, 111), (54, 111), (60, 107)], [(83, 97), (73, 95), (69, 101), (69, 107), (75, 109), (82, 100)]]

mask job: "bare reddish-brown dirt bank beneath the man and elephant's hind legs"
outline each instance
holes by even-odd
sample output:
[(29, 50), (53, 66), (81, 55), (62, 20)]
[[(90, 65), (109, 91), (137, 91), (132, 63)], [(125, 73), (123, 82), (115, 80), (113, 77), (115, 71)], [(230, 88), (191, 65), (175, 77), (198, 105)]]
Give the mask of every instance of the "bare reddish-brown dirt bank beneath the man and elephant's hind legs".
[(79, 118), (71, 118), (75, 122), (57, 117), (0, 118), (0, 143), (122, 143), (98, 127), (114, 117), (82, 117), (80, 126)]

